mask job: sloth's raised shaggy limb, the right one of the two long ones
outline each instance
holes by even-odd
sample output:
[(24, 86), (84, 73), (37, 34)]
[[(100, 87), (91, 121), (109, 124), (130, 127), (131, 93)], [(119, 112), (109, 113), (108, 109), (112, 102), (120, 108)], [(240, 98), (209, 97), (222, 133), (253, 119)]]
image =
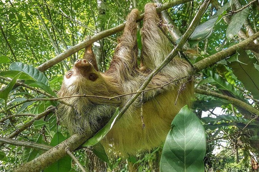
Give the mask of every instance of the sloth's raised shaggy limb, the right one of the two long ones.
[(151, 70), (158, 66), (172, 50), (170, 42), (157, 26), (159, 17), (155, 7), (156, 5), (153, 3), (145, 5), (141, 30), (141, 67)]

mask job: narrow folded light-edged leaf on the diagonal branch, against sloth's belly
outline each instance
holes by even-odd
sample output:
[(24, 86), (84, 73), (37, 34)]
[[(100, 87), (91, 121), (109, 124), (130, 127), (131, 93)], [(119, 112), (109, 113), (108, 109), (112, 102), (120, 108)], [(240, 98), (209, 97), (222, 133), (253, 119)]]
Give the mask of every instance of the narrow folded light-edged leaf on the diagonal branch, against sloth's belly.
[(104, 136), (111, 130), (112, 126), (114, 125), (117, 117), (119, 115), (119, 107), (117, 107), (114, 115), (111, 117), (110, 121), (97, 132), (93, 137), (88, 139), (82, 146), (93, 146), (100, 142), (104, 138)]

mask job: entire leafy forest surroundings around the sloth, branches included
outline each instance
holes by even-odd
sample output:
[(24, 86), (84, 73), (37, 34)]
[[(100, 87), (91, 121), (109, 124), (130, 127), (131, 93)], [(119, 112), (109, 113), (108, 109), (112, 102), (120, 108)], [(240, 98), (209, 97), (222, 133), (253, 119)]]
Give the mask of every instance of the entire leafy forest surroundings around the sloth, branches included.
[[(142, 14), (149, 2), (162, 4), (157, 24), (175, 47), (159, 67), (172, 54), (188, 61), (195, 96), (192, 107), (174, 118), (163, 144), (128, 158), (110, 156), (99, 141), (128, 107), (117, 108), (90, 139), (70, 135), (55, 114), (58, 104), (66, 104), (58, 90), (85, 47), (93, 44), (100, 72), (109, 68), (126, 16), (135, 8), (141, 14), (140, 64)], [(257, 171), (258, 29), (258, 0), (0, 1), (0, 171), (173, 171), (177, 161), (183, 168), (175, 171)], [(141, 98), (144, 89), (132, 97)], [(173, 139), (198, 128), (195, 138), (190, 132)], [(181, 150), (182, 160), (173, 155), (181, 152), (176, 145), (187, 145), (185, 139), (193, 151), (187, 156)]]

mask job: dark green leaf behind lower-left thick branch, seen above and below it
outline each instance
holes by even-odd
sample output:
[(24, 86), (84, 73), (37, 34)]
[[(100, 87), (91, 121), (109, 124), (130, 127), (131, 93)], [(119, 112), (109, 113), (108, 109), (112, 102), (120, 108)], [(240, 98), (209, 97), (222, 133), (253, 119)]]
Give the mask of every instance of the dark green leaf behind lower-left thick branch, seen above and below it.
[[(61, 142), (63, 142), (66, 138), (62, 135), (61, 132), (56, 132), (53, 139), (50, 142), (50, 146), (57, 146)], [(66, 172), (71, 170), (71, 157), (64, 156), (57, 162), (51, 164), (47, 167), (44, 172)]]

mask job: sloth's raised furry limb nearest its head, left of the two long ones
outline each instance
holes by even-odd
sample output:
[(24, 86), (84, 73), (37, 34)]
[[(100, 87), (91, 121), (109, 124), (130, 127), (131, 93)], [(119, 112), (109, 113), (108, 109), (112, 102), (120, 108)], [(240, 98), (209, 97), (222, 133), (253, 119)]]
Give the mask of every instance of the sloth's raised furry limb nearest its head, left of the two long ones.
[(119, 44), (115, 48), (110, 68), (106, 72), (122, 80), (130, 78), (137, 71), (138, 47), (136, 19), (138, 16), (138, 9), (133, 9), (127, 16), (124, 32), (118, 40)]

